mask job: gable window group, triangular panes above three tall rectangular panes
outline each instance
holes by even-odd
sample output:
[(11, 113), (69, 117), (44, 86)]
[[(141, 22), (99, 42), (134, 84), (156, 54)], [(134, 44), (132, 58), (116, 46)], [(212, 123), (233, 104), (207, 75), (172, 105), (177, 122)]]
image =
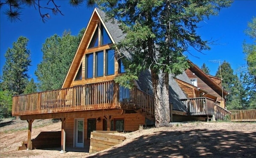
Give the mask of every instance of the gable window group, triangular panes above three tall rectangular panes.
[(115, 74), (115, 52), (108, 44), (112, 44), (111, 38), (103, 24), (99, 22), (85, 50), (86, 79)]

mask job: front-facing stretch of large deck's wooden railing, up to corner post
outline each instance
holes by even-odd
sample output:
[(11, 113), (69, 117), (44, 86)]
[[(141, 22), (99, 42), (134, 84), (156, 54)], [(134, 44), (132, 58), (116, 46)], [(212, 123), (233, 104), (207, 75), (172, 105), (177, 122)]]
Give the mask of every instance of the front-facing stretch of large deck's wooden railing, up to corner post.
[(113, 81), (13, 96), (12, 115), (119, 108)]

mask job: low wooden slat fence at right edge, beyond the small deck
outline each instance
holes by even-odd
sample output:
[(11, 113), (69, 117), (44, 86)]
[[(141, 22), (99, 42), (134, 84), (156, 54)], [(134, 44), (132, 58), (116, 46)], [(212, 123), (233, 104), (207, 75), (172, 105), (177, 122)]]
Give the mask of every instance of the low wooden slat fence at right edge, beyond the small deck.
[(254, 110), (229, 110), (231, 121), (256, 121), (256, 109)]

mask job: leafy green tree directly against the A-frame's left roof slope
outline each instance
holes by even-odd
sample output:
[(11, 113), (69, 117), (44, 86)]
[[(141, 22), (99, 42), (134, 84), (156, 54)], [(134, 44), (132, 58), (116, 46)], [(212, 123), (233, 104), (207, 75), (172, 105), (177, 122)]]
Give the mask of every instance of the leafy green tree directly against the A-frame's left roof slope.
[(55, 34), (46, 39), (42, 47), (43, 60), (35, 72), (40, 91), (61, 88), (81, 37), (82, 35), (73, 36), (71, 32), (65, 31), (62, 37)]

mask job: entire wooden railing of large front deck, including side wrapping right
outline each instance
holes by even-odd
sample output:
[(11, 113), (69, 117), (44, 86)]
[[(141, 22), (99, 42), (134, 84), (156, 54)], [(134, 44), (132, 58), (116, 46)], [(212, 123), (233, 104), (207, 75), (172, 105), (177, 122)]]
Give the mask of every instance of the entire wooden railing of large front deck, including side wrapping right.
[(137, 89), (101, 82), (71, 88), (14, 96), (12, 115), (45, 114), (98, 109), (145, 108), (153, 112), (152, 98)]

